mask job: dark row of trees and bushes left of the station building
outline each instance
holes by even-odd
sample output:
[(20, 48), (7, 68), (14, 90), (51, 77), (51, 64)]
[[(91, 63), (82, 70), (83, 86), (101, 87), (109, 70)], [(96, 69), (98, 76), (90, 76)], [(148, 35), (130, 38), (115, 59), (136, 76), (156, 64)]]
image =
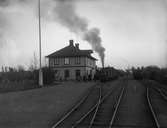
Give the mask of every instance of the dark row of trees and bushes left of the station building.
[[(54, 72), (49, 67), (43, 67), (43, 81), (44, 84), (51, 84), (54, 81)], [(31, 69), (25, 70), (23, 66), (15, 67), (2, 67), (0, 73), (0, 83), (9, 82), (30, 82), (38, 84), (39, 70)]]

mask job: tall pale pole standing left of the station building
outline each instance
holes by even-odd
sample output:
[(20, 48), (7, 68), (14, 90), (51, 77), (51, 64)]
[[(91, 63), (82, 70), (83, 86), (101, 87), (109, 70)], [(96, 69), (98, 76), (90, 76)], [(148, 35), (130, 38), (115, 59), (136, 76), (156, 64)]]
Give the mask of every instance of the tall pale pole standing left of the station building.
[(43, 86), (43, 73), (41, 62), (41, 2), (38, 0), (38, 28), (39, 28), (39, 86)]

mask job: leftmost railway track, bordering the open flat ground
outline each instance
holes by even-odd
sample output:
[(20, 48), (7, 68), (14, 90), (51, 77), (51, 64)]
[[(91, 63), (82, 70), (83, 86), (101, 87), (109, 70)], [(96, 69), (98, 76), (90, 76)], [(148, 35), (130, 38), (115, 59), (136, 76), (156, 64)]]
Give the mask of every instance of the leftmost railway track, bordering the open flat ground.
[(75, 106), (60, 120), (52, 124), (52, 128), (69, 128), (79, 117), (87, 112), (101, 98), (101, 86), (94, 86)]

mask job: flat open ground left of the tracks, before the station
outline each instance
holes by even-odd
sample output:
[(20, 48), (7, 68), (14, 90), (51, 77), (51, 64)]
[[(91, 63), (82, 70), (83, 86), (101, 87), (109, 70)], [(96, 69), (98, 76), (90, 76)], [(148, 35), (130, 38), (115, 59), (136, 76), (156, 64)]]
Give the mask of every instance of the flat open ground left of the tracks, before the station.
[(0, 127), (49, 128), (93, 83), (66, 82), (40, 89), (0, 94)]

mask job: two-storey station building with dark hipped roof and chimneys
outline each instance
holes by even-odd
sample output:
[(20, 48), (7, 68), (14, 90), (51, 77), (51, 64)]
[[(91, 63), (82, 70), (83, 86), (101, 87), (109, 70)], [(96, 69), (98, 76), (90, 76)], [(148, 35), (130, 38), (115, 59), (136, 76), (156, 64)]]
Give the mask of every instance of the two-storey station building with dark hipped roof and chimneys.
[(55, 71), (57, 80), (93, 78), (96, 68), (96, 58), (92, 50), (80, 50), (79, 44), (69, 41), (69, 45), (47, 56), (49, 67)]

